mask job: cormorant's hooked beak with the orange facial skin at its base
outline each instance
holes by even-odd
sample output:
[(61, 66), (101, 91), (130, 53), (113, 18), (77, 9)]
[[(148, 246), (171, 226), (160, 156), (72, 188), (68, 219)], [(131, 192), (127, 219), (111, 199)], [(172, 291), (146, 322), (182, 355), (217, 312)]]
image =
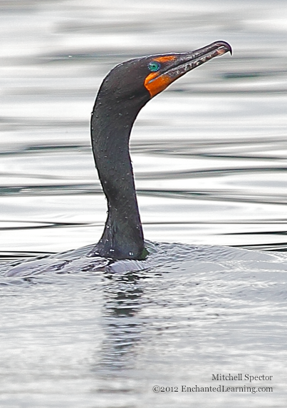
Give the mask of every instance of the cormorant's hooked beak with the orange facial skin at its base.
[(154, 61), (165, 63), (160, 71), (152, 72), (145, 78), (145, 88), (150, 92), (151, 98), (162, 92), (170, 83), (177, 80), (202, 63), (211, 60), (216, 56), (230, 52), (231, 46), (225, 41), (216, 41), (208, 46), (187, 53), (171, 53), (162, 56), (155, 56)]

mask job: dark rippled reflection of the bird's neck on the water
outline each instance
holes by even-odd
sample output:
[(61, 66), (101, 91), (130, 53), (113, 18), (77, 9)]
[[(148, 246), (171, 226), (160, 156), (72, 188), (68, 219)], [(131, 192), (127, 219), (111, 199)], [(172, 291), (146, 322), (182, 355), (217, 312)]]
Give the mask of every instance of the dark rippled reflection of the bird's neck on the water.
[(145, 319), (138, 314), (148, 303), (145, 297), (142, 298), (140, 281), (146, 277), (142, 271), (140, 274), (127, 272), (123, 275), (105, 273), (101, 314), (104, 337), (95, 356), (93, 371), (104, 374), (111, 369), (113, 372), (135, 369), (137, 346), (143, 340), (145, 328)]

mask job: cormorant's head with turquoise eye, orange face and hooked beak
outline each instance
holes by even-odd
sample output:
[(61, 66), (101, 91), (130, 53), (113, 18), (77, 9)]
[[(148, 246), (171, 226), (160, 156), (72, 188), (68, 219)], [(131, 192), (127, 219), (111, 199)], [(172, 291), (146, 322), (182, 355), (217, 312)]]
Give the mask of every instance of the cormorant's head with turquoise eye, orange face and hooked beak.
[(224, 41), (216, 41), (202, 49), (186, 53), (167, 53), (133, 58), (120, 63), (105, 77), (100, 92), (118, 102), (145, 105), (153, 96), (164, 91), (197, 66), (216, 56), (232, 52)]

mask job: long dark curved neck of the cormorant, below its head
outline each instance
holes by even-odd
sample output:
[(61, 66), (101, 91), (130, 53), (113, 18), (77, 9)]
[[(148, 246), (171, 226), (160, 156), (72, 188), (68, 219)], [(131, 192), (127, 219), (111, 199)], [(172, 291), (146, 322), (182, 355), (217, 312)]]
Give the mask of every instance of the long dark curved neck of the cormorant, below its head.
[[(137, 206), (129, 141), (141, 106), (132, 100), (110, 98), (99, 91), (91, 119), (95, 167), (108, 200), (108, 218), (102, 238), (90, 255), (112, 259), (144, 257), (142, 223)], [(131, 98), (132, 99), (132, 98)]]

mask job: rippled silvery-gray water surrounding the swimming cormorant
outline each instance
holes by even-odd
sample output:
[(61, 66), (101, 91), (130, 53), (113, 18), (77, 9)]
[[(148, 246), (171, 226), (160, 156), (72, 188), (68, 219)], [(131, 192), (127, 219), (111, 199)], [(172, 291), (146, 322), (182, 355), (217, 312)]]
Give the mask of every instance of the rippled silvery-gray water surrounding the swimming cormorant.
[[(286, 407), (285, 1), (0, 6), (0, 406)], [(103, 77), (216, 40), (234, 56), (132, 131), (152, 255), (85, 257), (106, 216), (89, 138)], [(269, 377), (212, 379), (239, 373)]]

